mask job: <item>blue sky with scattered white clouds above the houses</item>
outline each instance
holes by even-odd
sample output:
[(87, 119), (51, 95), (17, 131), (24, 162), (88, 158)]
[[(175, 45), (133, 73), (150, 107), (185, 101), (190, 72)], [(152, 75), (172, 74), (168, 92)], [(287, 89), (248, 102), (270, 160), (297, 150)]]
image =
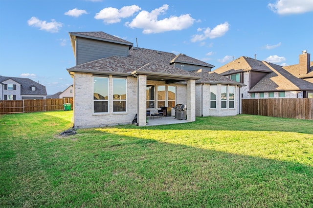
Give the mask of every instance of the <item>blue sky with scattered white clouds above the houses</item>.
[(95, 31), (213, 71), (241, 56), (286, 66), (313, 54), (313, 0), (0, 0), (0, 75), (62, 92), (75, 66), (68, 33)]

